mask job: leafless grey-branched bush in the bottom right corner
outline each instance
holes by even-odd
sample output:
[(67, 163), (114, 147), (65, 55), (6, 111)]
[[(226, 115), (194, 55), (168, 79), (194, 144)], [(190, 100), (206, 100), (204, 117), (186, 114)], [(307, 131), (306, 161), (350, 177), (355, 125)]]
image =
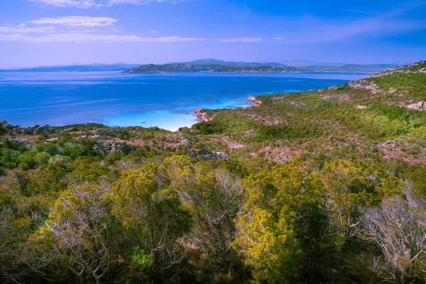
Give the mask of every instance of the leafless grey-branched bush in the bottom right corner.
[[(365, 210), (364, 238), (381, 251), (371, 270), (393, 283), (426, 281), (426, 200), (408, 183), (400, 196)], [(411, 278), (411, 279), (410, 279)]]

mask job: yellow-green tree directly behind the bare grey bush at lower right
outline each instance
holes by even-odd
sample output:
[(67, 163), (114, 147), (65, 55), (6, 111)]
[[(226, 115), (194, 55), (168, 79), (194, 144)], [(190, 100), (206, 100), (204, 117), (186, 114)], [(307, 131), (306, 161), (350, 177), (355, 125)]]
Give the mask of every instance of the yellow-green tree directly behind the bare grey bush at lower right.
[(324, 185), (322, 206), (338, 244), (356, 235), (360, 209), (380, 204), (398, 192), (398, 179), (371, 163), (351, 160), (326, 163), (320, 172)]

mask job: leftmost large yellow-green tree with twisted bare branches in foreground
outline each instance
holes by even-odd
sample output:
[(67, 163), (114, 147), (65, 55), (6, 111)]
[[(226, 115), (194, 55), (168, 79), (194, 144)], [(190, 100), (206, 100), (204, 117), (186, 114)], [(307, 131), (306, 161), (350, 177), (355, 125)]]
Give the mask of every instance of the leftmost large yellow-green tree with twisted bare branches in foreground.
[[(72, 187), (61, 192), (48, 219), (29, 238), (45, 260), (43, 271), (60, 279), (101, 283), (114, 259), (118, 233), (109, 216), (109, 188), (95, 185)], [(64, 271), (67, 269), (68, 273)], [(61, 272), (62, 271), (62, 272)], [(37, 271), (35, 271), (37, 272)]]

